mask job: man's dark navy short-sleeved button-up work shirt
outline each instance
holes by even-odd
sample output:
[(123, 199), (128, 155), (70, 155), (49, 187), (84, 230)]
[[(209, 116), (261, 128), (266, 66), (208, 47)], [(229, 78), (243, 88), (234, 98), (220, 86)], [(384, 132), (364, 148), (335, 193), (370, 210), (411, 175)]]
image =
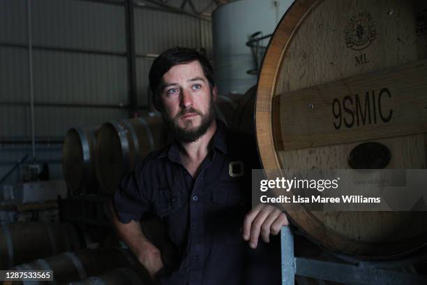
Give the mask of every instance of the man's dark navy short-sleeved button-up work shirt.
[(218, 120), (217, 126), (195, 178), (183, 167), (177, 142), (137, 163), (114, 194), (117, 216), (126, 224), (152, 212), (165, 222), (179, 262), (161, 284), (279, 283), (279, 247), (260, 241), (250, 249), (241, 233), (251, 170), (260, 168), (253, 138)]

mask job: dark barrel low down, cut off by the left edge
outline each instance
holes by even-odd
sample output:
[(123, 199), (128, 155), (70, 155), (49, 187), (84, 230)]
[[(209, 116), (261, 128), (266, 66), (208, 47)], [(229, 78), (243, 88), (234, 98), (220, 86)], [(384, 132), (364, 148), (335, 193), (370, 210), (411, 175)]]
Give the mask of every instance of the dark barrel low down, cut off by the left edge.
[(0, 268), (6, 270), (16, 264), (80, 247), (80, 237), (70, 224), (8, 224), (0, 230)]

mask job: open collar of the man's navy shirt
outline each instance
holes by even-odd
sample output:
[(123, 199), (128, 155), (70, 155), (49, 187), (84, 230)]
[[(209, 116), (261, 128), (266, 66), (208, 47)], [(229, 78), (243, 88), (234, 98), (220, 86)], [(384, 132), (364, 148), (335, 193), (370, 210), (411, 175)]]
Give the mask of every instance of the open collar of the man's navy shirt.
[[(224, 154), (227, 154), (227, 143), (225, 142), (225, 138), (227, 136), (227, 126), (220, 120), (216, 120), (216, 131), (211, 138), (211, 149), (216, 148), (219, 149)], [(209, 149), (209, 150), (211, 150)], [(169, 147), (165, 147), (158, 156), (158, 159), (168, 157), (171, 161), (181, 163), (181, 157), (179, 156), (178, 142), (174, 140)]]

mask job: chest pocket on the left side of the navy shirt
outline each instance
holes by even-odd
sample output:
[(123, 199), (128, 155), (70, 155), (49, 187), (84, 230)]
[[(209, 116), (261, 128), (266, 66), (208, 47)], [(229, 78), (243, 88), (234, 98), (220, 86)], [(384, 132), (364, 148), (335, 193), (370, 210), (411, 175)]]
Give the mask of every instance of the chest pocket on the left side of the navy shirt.
[(161, 187), (157, 191), (155, 205), (158, 217), (167, 217), (181, 207), (181, 193), (177, 190), (171, 191), (167, 187)]

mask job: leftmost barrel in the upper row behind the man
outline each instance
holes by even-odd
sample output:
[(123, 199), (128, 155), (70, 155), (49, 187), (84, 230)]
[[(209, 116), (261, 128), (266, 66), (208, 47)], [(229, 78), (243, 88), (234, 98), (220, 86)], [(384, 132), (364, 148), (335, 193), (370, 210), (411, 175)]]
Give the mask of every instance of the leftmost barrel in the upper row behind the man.
[(63, 177), (71, 193), (96, 190), (95, 146), (99, 127), (68, 130), (63, 142)]

